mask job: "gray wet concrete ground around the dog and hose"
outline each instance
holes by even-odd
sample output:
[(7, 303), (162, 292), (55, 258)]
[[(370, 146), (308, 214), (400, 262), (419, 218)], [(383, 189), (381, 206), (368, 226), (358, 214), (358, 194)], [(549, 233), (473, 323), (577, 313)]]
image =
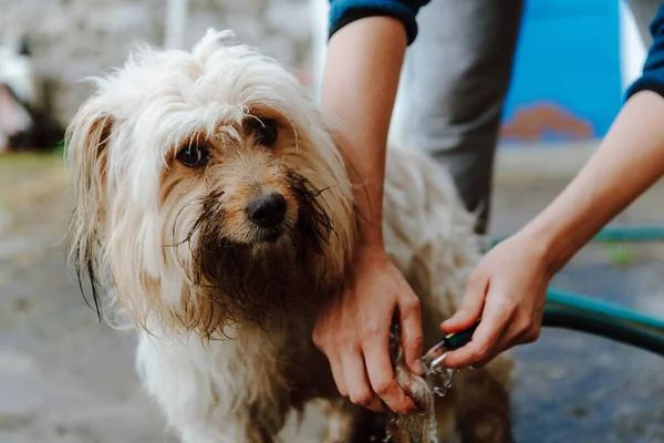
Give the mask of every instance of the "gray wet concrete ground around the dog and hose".
[[(522, 226), (589, 152), (505, 151), (492, 233)], [(68, 277), (63, 186), (59, 158), (0, 157), (0, 443), (175, 442), (139, 389), (132, 337), (100, 324)], [(661, 224), (662, 202), (658, 185), (619, 222)], [(664, 245), (595, 245), (554, 282), (664, 316), (663, 271)], [(516, 356), (519, 442), (664, 442), (661, 358), (558, 330)], [(284, 442), (318, 440), (321, 419), (310, 412)]]

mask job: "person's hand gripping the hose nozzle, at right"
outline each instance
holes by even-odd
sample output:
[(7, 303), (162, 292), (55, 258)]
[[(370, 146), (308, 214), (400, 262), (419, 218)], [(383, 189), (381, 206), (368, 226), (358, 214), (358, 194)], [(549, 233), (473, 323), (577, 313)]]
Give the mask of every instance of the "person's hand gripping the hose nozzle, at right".
[(517, 234), (491, 249), (470, 275), (456, 313), (440, 324), (458, 332), (481, 319), (473, 340), (448, 352), (448, 368), (480, 368), (500, 352), (539, 338), (553, 271), (536, 237)]

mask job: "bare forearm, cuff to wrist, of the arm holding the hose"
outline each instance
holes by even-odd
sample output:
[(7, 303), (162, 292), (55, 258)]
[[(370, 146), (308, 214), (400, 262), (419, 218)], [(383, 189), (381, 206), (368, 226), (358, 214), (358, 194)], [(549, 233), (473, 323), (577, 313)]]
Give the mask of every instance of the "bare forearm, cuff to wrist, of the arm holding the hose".
[(624, 105), (598, 152), (522, 233), (543, 246), (552, 272), (664, 174), (664, 99), (643, 91)]

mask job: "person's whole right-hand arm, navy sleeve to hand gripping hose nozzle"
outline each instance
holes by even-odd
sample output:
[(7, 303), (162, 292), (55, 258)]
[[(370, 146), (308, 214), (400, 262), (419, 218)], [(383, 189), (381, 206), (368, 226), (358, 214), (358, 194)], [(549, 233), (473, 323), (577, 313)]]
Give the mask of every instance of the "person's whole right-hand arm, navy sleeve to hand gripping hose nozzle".
[(481, 321), (473, 341), (448, 353), (445, 364), (481, 365), (537, 340), (551, 277), (664, 174), (664, 7), (651, 31), (643, 76), (598, 152), (551, 205), (490, 250), (471, 275), (459, 309), (442, 329)]

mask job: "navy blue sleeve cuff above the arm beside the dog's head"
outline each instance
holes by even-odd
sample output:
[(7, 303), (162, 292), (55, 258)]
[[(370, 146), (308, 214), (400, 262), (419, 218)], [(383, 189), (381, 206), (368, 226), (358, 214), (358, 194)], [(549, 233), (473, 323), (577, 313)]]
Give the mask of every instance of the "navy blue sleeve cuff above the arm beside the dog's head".
[(387, 16), (404, 23), (411, 44), (417, 37), (415, 17), (419, 8), (428, 2), (429, 0), (330, 0), (330, 37), (355, 20)]

